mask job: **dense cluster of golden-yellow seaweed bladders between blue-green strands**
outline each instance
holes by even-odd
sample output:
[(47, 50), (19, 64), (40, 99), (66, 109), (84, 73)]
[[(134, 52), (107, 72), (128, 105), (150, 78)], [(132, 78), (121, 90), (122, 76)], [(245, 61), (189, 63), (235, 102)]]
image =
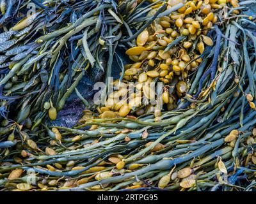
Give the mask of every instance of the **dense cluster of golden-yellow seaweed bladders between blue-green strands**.
[[(161, 100), (167, 104), (168, 110), (175, 108), (177, 99), (182, 98), (188, 90), (186, 79), (189, 71), (195, 71), (202, 62), (202, 57), (206, 54), (205, 46), (213, 45), (212, 39), (206, 35), (217, 21), (212, 8), (221, 8), (220, 4), (214, 2), (216, 1), (205, 4), (203, 1), (188, 1), (171, 15), (159, 15), (150, 27), (142, 31), (136, 39), (137, 46), (126, 51), (136, 63), (125, 65), (125, 70), (121, 73), (124, 84), (119, 83), (120, 79), (113, 83), (114, 90), (117, 91), (109, 94), (106, 108), (119, 110), (118, 115), (121, 117), (128, 115), (131, 110), (136, 110), (136, 115), (143, 115), (154, 108), (155, 117), (159, 117), (161, 110), (157, 103), (154, 107), (140, 108), (143, 96), (148, 100), (156, 98), (155, 87), (150, 82), (157, 80), (166, 84)], [(170, 1), (169, 6), (173, 6), (173, 3), (176, 1)], [(148, 15), (154, 12), (156, 9), (151, 10)], [(127, 95), (129, 82), (137, 82), (135, 86), (138, 91), (134, 96), (124, 97)], [(106, 108), (103, 109), (105, 112)], [(109, 115), (113, 115), (113, 112), (103, 116)]]

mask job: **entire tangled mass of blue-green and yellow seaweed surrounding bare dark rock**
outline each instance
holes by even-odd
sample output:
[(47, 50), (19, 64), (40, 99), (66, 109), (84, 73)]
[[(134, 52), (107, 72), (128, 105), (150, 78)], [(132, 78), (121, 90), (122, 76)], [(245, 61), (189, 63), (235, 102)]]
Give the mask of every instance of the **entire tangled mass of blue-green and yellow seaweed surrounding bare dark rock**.
[[(9, 17), (24, 7), (10, 2)], [(255, 22), (241, 13), (252, 1), (136, 3), (49, 1), (14, 25), (1, 6), (3, 191), (255, 188)], [(168, 111), (125, 102), (49, 126), (84, 71), (110, 83), (117, 46), (135, 62), (119, 60), (120, 84), (160, 80)]]

